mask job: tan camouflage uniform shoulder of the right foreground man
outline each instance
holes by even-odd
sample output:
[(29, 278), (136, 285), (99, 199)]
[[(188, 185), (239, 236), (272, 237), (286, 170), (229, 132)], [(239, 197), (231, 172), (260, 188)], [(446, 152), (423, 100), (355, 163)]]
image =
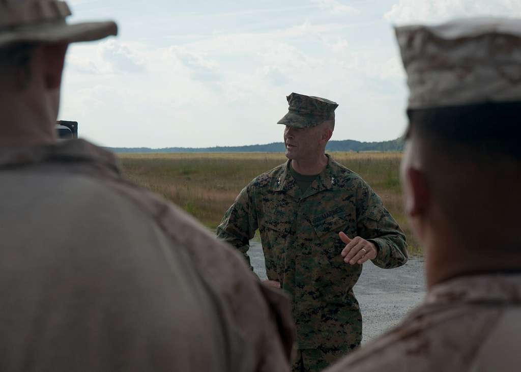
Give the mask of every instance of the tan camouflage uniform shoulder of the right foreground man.
[(521, 366), (521, 274), (433, 287), (401, 323), (327, 372), (511, 372)]

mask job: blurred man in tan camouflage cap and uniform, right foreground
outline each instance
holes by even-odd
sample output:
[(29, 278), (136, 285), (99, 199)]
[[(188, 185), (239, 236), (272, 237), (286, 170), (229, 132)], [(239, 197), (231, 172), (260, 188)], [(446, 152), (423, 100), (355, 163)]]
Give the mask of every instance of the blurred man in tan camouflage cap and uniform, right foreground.
[(411, 91), (405, 209), (427, 296), (328, 372), (521, 366), (521, 19), (396, 29)]

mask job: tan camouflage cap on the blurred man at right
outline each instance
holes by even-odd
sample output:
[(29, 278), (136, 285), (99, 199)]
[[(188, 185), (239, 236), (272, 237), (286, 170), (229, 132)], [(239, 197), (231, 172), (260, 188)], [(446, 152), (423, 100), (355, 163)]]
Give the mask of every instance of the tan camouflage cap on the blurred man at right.
[(408, 108), (521, 101), (521, 19), (396, 28)]

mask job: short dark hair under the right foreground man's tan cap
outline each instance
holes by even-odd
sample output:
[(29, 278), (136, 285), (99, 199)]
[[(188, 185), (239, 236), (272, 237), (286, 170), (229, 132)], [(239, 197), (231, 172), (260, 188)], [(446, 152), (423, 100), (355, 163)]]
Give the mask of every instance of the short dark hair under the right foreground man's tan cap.
[(407, 116), (423, 138), (521, 160), (521, 102), (409, 109)]

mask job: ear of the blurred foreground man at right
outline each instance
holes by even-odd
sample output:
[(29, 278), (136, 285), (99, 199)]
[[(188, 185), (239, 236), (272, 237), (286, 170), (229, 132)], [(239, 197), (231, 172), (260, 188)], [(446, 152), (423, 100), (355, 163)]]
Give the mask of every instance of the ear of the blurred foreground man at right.
[(425, 173), (415, 168), (405, 170), (405, 213), (413, 218), (425, 214), (431, 200), (431, 190)]

